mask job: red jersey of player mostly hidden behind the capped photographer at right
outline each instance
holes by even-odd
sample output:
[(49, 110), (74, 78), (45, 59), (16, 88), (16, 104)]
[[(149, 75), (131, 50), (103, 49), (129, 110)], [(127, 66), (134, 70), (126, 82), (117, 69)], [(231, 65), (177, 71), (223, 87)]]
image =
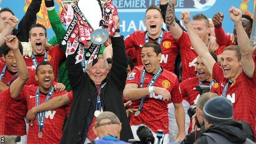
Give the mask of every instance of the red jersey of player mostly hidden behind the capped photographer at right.
[[(190, 103), (190, 105), (197, 104), (199, 99), (199, 92), (196, 90), (197, 85), (199, 85), (199, 78), (188, 78), (180, 83), (180, 90), (181, 95), (184, 100)], [(203, 82), (203, 85), (210, 85), (210, 82)], [(215, 82), (212, 87), (211, 91), (215, 92), (218, 91), (219, 83)]]

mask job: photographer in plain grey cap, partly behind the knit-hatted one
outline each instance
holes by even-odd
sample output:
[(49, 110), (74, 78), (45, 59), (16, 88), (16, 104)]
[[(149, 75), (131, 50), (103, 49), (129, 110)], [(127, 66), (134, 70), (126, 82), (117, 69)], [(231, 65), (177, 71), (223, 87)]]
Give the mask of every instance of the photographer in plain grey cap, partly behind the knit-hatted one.
[[(197, 140), (197, 138), (201, 135), (201, 133), (203, 133), (203, 131), (205, 130), (204, 123), (203, 123), (203, 114), (202, 114), (203, 106), (210, 98), (215, 97), (215, 96), (218, 96), (218, 95), (215, 93), (212, 93), (212, 92), (206, 92), (199, 97), (199, 99), (197, 101), (196, 117), (195, 118), (197, 119), (201, 128), (197, 128), (196, 130), (194, 130), (190, 134), (188, 134), (184, 138), (184, 140), (181, 142), (181, 144), (193, 144)], [(194, 128), (194, 125), (192, 127)]]

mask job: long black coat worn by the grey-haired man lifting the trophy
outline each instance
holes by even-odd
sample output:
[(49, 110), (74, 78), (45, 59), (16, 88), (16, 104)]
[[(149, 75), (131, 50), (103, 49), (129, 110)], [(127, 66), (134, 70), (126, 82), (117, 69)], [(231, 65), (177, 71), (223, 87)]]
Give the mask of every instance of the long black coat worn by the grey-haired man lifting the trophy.
[[(103, 109), (113, 112), (122, 123), (121, 140), (133, 139), (126, 110), (123, 105), (123, 89), (127, 77), (127, 57), (123, 37), (112, 38), (113, 63), (111, 72), (107, 74), (103, 88)], [(76, 54), (76, 53), (75, 53)], [(69, 118), (64, 126), (61, 144), (76, 144), (82, 139), (85, 122), (88, 118), (89, 107), (93, 97), (96, 97), (97, 88), (87, 73), (83, 73), (80, 63), (75, 64), (75, 54), (66, 59), (69, 82), (73, 90), (73, 103)]]

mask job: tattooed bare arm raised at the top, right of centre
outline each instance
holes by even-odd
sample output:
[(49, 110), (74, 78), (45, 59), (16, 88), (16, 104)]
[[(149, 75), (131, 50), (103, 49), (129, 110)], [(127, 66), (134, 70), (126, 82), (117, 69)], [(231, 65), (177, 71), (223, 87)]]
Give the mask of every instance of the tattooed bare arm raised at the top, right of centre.
[(171, 35), (174, 37), (175, 41), (178, 41), (178, 39), (182, 35), (183, 30), (175, 21), (175, 3), (176, 0), (169, 1), (165, 16), (165, 23), (169, 31), (171, 32)]

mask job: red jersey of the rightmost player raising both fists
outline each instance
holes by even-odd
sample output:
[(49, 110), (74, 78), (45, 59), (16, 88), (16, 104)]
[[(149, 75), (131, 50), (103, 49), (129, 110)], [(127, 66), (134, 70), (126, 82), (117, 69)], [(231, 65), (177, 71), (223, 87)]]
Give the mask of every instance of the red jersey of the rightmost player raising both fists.
[[(213, 78), (219, 82), (219, 93), (222, 91), (228, 79), (224, 78), (222, 67), (217, 63), (213, 66)], [(244, 71), (235, 79), (232, 85), (229, 84), (226, 91), (226, 98), (233, 104), (233, 119), (242, 120), (251, 126), (255, 133), (255, 119), (256, 119), (256, 67), (254, 69), (254, 76), (248, 78)]]

